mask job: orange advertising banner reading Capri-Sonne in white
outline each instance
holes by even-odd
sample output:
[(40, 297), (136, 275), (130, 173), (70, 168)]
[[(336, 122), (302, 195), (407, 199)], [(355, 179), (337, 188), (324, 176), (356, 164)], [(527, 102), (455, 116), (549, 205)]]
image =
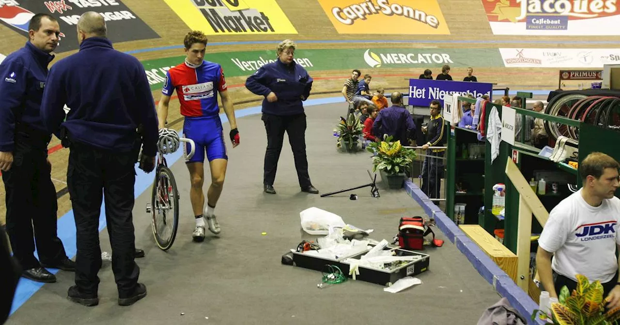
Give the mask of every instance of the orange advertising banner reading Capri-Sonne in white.
[(450, 34), (436, 0), (319, 0), (319, 4), (340, 34)]

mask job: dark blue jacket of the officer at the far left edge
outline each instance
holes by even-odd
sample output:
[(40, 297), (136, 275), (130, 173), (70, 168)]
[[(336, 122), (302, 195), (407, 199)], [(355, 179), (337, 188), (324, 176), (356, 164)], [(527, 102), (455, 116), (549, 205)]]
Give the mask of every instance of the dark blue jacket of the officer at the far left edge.
[(15, 123), (45, 130), (39, 110), (47, 66), (53, 59), (28, 41), (0, 64), (0, 151), (13, 151)]

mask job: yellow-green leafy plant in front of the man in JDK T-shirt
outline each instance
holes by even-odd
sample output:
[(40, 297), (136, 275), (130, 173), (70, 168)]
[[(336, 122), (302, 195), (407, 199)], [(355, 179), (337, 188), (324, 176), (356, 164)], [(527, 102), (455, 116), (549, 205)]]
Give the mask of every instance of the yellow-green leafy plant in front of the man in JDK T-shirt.
[(532, 320), (541, 313), (541, 318), (550, 318), (557, 325), (611, 325), (620, 319), (620, 307), (604, 312), (603, 285), (596, 280), (590, 283), (584, 275), (577, 274), (577, 289), (569, 293), (564, 286), (560, 290), (557, 303), (552, 304), (551, 314), (542, 310), (534, 310)]

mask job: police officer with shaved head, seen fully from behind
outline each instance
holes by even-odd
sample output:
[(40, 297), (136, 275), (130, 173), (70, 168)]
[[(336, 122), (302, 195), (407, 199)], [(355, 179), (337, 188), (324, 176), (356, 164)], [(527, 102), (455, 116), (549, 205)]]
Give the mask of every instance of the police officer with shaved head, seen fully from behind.
[[(116, 51), (106, 38), (102, 15), (86, 12), (78, 20), (78, 53), (56, 63), (43, 93), (42, 118), (71, 150), (67, 184), (77, 230), (76, 279), (68, 298), (94, 306), (101, 268), (99, 214), (105, 196), (112, 271), (118, 305), (146, 296), (134, 261), (134, 164), (143, 138), (141, 168), (150, 172), (157, 150), (155, 103), (142, 64)], [(66, 115), (63, 106), (71, 110)], [(138, 134), (137, 129), (141, 129)], [(103, 194), (103, 195), (102, 195)]]

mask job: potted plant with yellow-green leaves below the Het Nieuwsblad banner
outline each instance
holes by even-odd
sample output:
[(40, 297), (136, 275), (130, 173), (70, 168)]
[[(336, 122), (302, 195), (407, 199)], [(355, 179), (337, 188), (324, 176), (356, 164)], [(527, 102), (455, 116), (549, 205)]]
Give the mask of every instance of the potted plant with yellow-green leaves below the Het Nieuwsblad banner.
[(366, 147), (373, 155), (373, 172), (379, 170), (381, 179), (391, 189), (402, 188), (405, 181), (405, 170), (415, 158), (413, 149), (404, 148), (401, 141), (392, 142), (392, 137), (384, 137), (381, 142), (371, 142)]

